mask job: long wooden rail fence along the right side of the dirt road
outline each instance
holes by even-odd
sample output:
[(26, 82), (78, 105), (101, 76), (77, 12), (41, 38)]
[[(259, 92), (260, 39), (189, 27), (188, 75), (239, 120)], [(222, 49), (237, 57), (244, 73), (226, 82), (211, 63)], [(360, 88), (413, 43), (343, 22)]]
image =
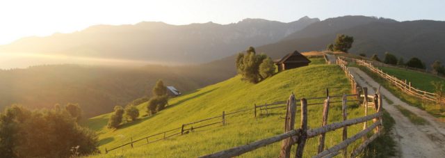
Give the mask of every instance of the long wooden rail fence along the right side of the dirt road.
[(437, 94), (414, 88), (410, 81), (407, 81), (406, 79), (405, 80), (397, 79), (396, 77), (387, 74), (378, 68), (375, 68), (375, 66), (371, 62), (366, 62), (364, 60), (358, 60), (355, 58), (339, 57), (339, 60), (341, 61), (346, 61), (346, 59), (350, 61), (355, 61), (355, 63), (357, 63), (358, 65), (362, 65), (365, 68), (368, 68), (369, 70), (371, 70), (371, 72), (378, 74), (380, 77), (389, 81), (391, 84), (402, 90), (404, 93), (407, 93), (408, 95), (418, 97), (421, 100), (429, 100), (433, 102), (439, 102), (440, 100), (440, 102), (445, 103), (445, 99), (440, 98)]

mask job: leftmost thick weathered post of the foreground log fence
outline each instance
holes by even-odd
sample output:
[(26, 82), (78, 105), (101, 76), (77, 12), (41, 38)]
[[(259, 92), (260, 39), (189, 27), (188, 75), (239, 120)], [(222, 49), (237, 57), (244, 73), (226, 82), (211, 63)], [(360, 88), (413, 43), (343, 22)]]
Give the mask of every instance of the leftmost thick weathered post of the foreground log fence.
[[(291, 94), (289, 100), (287, 100), (287, 109), (285, 118), (286, 120), (284, 120), (284, 133), (289, 132), (293, 129), (295, 125), (295, 115), (296, 115), (296, 100), (295, 96)], [(293, 140), (293, 137), (284, 139), (282, 141), (280, 158), (291, 157), (291, 148), (294, 143), (296, 143), (296, 140)]]

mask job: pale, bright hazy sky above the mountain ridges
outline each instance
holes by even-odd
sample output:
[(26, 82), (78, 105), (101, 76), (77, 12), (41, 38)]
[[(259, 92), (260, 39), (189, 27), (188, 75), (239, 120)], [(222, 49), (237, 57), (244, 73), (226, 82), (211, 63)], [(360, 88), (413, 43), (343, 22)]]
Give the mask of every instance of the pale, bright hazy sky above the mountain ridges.
[(367, 15), (398, 21), (443, 21), (444, 8), (444, 0), (1, 0), (0, 45), (24, 36), (70, 33), (95, 24), (136, 24), (141, 21), (229, 24), (248, 17), (292, 22), (305, 15), (322, 20), (343, 15)]

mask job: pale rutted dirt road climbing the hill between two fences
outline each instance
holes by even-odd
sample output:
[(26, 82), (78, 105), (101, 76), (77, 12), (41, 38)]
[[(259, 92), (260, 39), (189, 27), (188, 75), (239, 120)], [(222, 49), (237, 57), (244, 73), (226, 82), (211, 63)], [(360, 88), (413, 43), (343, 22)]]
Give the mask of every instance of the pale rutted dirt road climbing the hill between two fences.
[[(349, 70), (357, 79), (359, 85), (369, 87), (369, 94), (375, 93), (373, 88), (379, 87), (377, 82), (358, 68), (350, 68)], [(396, 120), (391, 135), (398, 143), (398, 151), (400, 152), (398, 157), (445, 157), (445, 123), (439, 122), (426, 111), (402, 102), (383, 87), (380, 88), (380, 93), (393, 101), (394, 104), (401, 105), (430, 123), (430, 125), (414, 125), (396, 107), (382, 100), (383, 108)]]

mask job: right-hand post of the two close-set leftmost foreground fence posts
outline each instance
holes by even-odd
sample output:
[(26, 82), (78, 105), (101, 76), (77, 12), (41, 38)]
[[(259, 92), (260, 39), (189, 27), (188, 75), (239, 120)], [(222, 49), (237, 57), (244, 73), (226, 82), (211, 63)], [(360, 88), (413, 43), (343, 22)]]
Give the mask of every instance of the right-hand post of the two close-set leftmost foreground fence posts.
[(302, 98), (301, 102), (301, 135), (298, 138), (298, 146), (296, 151), (296, 158), (303, 157), (303, 151), (305, 150), (305, 144), (307, 139), (307, 100)]

